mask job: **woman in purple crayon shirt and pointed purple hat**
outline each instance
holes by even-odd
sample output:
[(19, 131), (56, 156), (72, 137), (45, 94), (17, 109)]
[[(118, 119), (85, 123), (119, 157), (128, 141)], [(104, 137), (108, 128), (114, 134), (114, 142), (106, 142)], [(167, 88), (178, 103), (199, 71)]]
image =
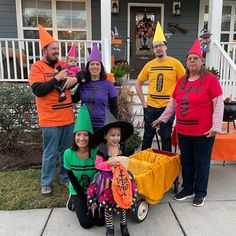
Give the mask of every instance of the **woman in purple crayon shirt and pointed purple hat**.
[(106, 109), (110, 110), (115, 117), (118, 112), (117, 91), (111, 81), (107, 80), (97, 44), (93, 45), (84, 76), (86, 82), (79, 84), (72, 96), (72, 101), (76, 103), (81, 100), (82, 104), (86, 104), (93, 130), (96, 131), (104, 125)]

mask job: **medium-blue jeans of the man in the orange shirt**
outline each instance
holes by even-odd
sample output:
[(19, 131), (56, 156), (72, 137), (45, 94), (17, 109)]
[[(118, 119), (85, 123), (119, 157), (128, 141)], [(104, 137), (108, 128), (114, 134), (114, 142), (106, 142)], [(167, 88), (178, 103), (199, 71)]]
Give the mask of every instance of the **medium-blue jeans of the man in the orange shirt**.
[(51, 186), (56, 172), (56, 158), (59, 155), (60, 179), (67, 182), (68, 176), (64, 168), (64, 151), (71, 147), (74, 124), (58, 127), (42, 128), (43, 157), (41, 186)]

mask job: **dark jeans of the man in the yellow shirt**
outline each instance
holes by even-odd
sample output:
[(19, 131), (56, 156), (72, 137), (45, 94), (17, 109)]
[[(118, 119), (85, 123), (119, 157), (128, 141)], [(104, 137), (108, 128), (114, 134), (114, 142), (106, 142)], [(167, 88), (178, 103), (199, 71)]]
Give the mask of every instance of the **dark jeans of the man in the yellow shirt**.
[[(142, 150), (150, 148), (152, 146), (152, 141), (156, 133), (156, 128), (152, 127), (152, 122), (159, 118), (164, 112), (165, 107), (163, 108), (154, 108), (148, 106), (144, 108), (144, 135), (142, 142)], [(167, 123), (161, 123), (159, 135), (161, 137), (162, 150), (171, 152), (171, 132), (172, 125), (175, 119), (173, 115)]]

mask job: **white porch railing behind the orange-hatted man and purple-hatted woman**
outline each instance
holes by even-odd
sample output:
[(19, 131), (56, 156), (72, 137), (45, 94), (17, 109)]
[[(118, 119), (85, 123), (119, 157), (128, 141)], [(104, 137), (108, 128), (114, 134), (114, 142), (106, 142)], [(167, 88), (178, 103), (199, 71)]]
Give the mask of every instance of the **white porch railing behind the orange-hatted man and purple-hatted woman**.
[[(78, 65), (84, 67), (93, 43), (103, 51), (99, 40), (58, 40), (59, 57), (64, 60), (72, 42), (78, 47)], [(41, 48), (37, 39), (0, 38), (0, 82), (27, 82), (31, 65), (40, 60)]]

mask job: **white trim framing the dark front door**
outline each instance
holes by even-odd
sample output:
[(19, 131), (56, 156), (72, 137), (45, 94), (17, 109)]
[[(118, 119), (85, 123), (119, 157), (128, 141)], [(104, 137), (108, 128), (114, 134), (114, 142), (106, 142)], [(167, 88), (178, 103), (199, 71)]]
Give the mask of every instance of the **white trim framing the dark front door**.
[(127, 18), (127, 61), (130, 64), (130, 8), (131, 7), (161, 7), (161, 25), (164, 25), (164, 4), (163, 3), (128, 3)]

